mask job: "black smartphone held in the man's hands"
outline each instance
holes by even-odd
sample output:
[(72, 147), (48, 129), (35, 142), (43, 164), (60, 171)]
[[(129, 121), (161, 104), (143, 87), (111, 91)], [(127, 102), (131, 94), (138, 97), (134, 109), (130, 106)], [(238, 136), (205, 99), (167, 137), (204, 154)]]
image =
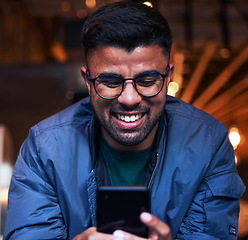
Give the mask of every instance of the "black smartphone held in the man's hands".
[(140, 214), (150, 212), (150, 201), (146, 187), (98, 187), (97, 231), (113, 233), (120, 229), (148, 238), (148, 227), (140, 221)]

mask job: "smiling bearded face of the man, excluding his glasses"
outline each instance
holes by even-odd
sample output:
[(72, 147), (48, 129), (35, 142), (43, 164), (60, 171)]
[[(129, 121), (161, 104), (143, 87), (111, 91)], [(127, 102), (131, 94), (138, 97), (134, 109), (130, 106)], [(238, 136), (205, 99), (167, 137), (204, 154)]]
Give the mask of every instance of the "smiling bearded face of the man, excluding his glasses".
[[(161, 47), (137, 47), (131, 53), (116, 47), (98, 47), (87, 58), (90, 77), (103, 73), (114, 73), (123, 78), (133, 78), (147, 71), (165, 74), (168, 57)], [(115, 99), (101, 98), (88, 81), (86, 69), (82, 67), (94, 112), (102, 126), (107, 142), (120, 150), (143, 150), (151, 146), (160, 116), (166, 104), (167, 85), (165, 79), (162, 91), (154, 97), (143, 97), (135, 90), (133, 81), (125, 81), (122, 94)]]

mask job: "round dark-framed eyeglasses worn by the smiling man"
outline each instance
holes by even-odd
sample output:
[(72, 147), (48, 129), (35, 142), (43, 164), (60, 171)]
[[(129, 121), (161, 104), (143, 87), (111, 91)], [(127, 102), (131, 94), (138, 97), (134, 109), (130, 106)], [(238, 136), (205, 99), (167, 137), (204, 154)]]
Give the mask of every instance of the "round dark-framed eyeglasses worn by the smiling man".
[(88, 69), (86, 70), (86, 75), (101, 98), (114, 99), (121, 95), (127, 80), (133, 80), (134, 88), (141, 96), (156, 96), (163, 89), (164, 79), (168, 77), (169, 71), (170, 66), (167, 65), (167, 72), (165, 74), (150, 71), (141, 73), (135, 78), (123, 78), (117, 74), (108, 73), (102, 73), (95, 78), (91, 78)]

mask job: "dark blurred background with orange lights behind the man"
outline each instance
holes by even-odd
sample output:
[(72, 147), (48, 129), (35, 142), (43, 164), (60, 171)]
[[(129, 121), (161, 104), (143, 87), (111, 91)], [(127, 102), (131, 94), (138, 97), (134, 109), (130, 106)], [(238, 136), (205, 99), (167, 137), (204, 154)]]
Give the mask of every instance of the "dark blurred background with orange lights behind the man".
[[(91, 12), (111, 2), (0, 0), (0, 236), (19, 148), (31, 126), (87, 96), (80, 75), (85, 64), (80, 30)], [(248, 1), (146, 4), (166, 17), (173, 33), (169, 94), (228, 128), (239, 174), (248, 185)], [(248, 239), (247, 201), (246, 191), (239, 239)]]

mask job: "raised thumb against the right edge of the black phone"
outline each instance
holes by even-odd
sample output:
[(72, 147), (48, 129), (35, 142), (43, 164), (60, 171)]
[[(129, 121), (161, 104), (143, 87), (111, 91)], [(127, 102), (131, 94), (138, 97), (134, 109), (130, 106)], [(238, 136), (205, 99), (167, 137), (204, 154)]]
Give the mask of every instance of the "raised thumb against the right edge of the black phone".
[(140, 215), (140, 219), (146, 226), (149, 227), (150, 231), (153, 232), (153, 234), (154, 232), (158, 234), (159, 239), (172, 240), (170, 227), (166, 223), (160, 221), (152, 214), (146, 212), (143, 212)]

